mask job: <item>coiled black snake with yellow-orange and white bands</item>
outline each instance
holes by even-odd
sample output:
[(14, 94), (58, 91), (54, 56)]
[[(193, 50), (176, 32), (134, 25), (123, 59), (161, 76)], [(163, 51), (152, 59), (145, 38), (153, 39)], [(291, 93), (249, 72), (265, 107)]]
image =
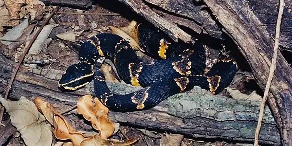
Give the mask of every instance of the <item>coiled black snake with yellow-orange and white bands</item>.
[[(132, 112), (155, 107), (169, 96), (199, 86), (212, 94), (223, 91), (237, 72), (237, 62), (222, 54), (205, 73), (206, 55), (200, 41), (175, 42), (161, 30), (144, 23), (137, 28), (139, 45), (154, 58), (144, 61), (126, 39), (101, 33), (87, 39), (79, 50), (78, 63), (69, 66), (58, 81), (62, 91), (76, 91), (93, 80), (94, 96), (117, 112)], [(113, 62), (118, 75), (127, 84), (141, 86), (128, 94), (115, 94), (101, 72), (105, 57)]]

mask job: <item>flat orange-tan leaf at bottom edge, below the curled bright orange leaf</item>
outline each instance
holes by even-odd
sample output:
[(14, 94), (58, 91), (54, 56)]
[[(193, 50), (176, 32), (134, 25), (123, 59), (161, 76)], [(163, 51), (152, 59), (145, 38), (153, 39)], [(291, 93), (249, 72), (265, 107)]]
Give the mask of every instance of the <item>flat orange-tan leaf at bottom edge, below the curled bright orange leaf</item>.
[(83, 141), (80, 146), (131, 146), (138, 140), (139, 139), (129, 139), (122, 142), (116, 139), (108, 140), (101, 138), (98, 134), (96, 134), (93, 138)]

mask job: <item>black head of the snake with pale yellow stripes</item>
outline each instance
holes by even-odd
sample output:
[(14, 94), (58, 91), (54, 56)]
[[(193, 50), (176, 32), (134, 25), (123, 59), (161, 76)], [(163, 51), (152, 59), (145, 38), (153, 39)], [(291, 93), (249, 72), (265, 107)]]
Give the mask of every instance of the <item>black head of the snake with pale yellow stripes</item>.
[(73, 64), (60, 78), (58, 87), (63, 90), (75, 91), (90, 83), (93, 76), (93, 65), (85, 62)]

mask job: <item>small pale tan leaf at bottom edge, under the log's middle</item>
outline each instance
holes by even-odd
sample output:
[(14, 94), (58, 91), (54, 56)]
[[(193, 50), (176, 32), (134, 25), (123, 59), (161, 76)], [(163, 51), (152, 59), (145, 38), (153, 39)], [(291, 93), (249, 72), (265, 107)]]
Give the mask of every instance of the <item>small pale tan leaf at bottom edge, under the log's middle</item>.
[(181, 134), (165, 134), (159, 142), (160, 146), (181, 146), (183, 135)]

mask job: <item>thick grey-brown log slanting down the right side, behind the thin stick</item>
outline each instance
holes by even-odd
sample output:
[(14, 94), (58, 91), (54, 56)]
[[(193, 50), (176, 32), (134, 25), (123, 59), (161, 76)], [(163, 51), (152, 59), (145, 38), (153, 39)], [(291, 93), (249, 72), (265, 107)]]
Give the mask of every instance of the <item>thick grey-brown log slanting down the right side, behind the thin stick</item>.
[[(256, 81), (264, 89), (270, 71), (274, 41), (254, 13), (241, 0), (204, 0), (249, 62)], [(252, 24), (252, 25), (250, 25)], [(247, 27), (248, 26), (248, 27)], [(283, 144), (292, 144), (292, 69), (278, 54), (271, 85), (275, 102), (269, 104), (281, 131)]]

